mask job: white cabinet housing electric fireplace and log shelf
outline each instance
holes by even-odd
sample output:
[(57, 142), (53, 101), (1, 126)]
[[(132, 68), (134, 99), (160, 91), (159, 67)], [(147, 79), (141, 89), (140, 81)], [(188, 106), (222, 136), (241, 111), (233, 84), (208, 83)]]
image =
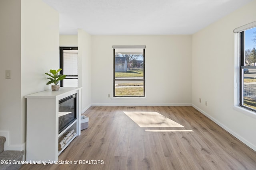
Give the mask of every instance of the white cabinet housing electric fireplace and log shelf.
[[(76, 120), (59, 134), (59, 100), (76, 94)], [(58, 91), (46, 90), (25, 96), (27, 102), (26, 160), (57, 161), (58, 155), (81, 133), (80, 98), (81, 88), (61, 87)], [(58, 138), (70, 129), (76, 135), (58, 150)]]

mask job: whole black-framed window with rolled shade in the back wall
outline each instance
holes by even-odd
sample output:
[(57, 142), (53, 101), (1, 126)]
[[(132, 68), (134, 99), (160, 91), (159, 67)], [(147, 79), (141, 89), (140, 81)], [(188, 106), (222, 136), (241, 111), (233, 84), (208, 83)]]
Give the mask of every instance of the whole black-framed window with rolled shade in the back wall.
[(114, 97), (145, 97), (145, 47), (113, 46)]

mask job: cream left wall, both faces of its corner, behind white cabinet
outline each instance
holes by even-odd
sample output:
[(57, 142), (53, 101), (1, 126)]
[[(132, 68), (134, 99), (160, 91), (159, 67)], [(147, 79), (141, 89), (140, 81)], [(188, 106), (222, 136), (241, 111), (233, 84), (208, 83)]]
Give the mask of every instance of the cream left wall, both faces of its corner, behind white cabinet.
[[(0, 11), (0, 132), (6, 134), (7, 149), (22, 150), (24, 96), (50, 89), (44, 73), (59, 67), (59, 18), (42, 0), (0, 1)], [(11, 70), (10, 80), (5, 79), (5, 70)]]

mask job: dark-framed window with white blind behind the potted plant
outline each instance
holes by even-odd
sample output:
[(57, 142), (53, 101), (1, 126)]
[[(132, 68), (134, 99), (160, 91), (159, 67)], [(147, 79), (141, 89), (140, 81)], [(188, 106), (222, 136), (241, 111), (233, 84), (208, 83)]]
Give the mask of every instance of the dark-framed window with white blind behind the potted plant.
[(78, 87), (78, 49), (60, 47), (60, 74), (66, 78), (60, 81), (61, 87)]

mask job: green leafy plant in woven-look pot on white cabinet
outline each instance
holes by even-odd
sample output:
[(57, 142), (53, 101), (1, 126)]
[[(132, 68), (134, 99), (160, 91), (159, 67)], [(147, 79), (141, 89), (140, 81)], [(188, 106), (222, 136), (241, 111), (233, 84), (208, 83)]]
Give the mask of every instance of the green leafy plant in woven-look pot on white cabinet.
[(58, 74), (58, 72), (60, 72), (60, 70), (62, 70), (62, 68), (58, 69), (58, 70), (50, 70), (50, 73), (45, 73), (46, 75), (50, 76), (47, 77), (48, 79), (50, 79), (50, 81), (48, 81), (46, 83), (46, 85), (54, 83), (54, 85), (52, 85), (52, 91), (57, 91), (60, 89), (60, 85), (58, 84), (58, 82), (60, 80), (63, 80), (64, 78), (66, 78), (66, 75), (62, 75), (62, 74)]

